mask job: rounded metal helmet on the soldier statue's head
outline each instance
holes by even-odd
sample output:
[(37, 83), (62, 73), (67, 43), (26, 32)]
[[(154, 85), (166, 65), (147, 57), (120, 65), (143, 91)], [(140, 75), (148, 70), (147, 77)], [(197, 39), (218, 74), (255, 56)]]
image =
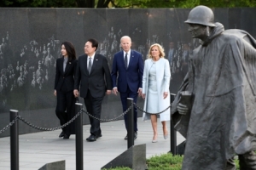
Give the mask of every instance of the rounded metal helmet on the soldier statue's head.
[(189, 12), (188, 20), (186, 20), (185, 23), (215, 26), (212, 9), (202, 5), (192, 8)]

